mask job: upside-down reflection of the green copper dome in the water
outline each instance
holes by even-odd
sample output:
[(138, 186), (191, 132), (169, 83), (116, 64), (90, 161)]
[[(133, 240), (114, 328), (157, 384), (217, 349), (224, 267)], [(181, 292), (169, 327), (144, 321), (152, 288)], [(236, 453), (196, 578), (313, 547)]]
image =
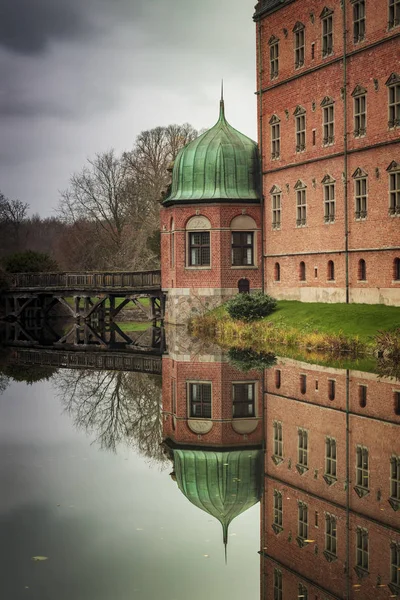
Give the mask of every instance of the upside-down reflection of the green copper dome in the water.
[(181, 492), (222, 525), (224, 544), (229, 523), (261, 498), (261, 450), (214, 452), (173, 450)]

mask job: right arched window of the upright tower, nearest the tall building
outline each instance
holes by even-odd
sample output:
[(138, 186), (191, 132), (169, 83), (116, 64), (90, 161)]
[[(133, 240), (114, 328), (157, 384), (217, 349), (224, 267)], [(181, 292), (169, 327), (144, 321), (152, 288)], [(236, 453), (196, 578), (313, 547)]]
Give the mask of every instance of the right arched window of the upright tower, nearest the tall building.
[(251, 267), (255, 262), (257, 223), (248, 215), (239, 215), (231, 221), (232, 266)]

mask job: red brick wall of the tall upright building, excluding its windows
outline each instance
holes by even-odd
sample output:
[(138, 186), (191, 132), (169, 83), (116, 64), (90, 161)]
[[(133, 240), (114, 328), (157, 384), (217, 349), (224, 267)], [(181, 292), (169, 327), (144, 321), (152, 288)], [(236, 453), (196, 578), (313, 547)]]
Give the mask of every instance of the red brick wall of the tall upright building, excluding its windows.
[[(400, 141), (400, 130), (388, 128), (387, 79), (396, 71), (400, 53), (400, 38), (393, 37), (399, 29), (388, 31), (388, 2), (379, 0), (373, 5), (366, 3), (366, 39), (353, 42), (353, 7), (346, 2), (348, 53), (346, 86), (343, 79), (343, 10), (341, 2), (335, 0), (329, 8), (333, 15), (333, 55), (321, 56), (320, 14), (324, 2), (296, 1), (266, 15), (258, 24), (261, 27), (262, 80), (264, 90), (261, 102), (262, 118), (262, 165), (264, 172), (263, 191), (265, 197), (265, 261), (266, 285), (270, 293), (288, 297), (292, 288), (337, 288), (345, 286), (344, 254), (332, 252), (345, 249), (345, 189), (348, 194), (349, 248), (357, 254), (349, 255), (349, 285), (361, 290), (351, 299), (354, 301), (387, 301), (388, 293), (380, 295), (380, 288), (391, 288), (391, 302), (400, 304), (400, 283), (393, 281), (393, 261), (400, 257), (400, 219), (388, 214), (389, 178), (386, 171), (393, 160), (399, 160), (399, 146), (390, 142)], [(305, 65), (294, 68), (294, 33), (297, 21), (305, 25)], [(269, 44), (274, 35), (279, 38), (279, 76), (270, 78)], [(371, 44), (393, 37), (374, 47)], [(314, 59), (311, 48), (314, 44)], [(258, 48), (258, 37), (257, 37)], [(358, 50), (364, 49), (359, 52)], [(353, 52), (356, 51), (357, 52)], [(352, 54), (353, 53), (353, 54)], [(259, 57), (257, 51), (257, 58)], [(258, 65), (260, 66), (260, 65)], [(397, 69), (398, 70), (398, 69)], [(351, 96), (356, 85), (367, 89), (366, 135), (354, 137), (354, 99)], [(260, 87), (260, 82), (258, 83)], [(348, 177), (343, 179), (344, 150), (344, 89), (347, 93), (348, 134)], [(325, 96), (335, 100), (335, 142), (323, 147), (321, 101)], [(296, 153), (295, 117), (297, 105), (306, 109), (306, 150)], [(271, 159), (271, 127), (269, 120), (278, 115), (281, 123), (281, 154), (278, 160)], [(315, 145), (312, 132), (315, 131)], [(389, 143), (386, 146), (371, 147)], [(365, 148), (364, 151), (357, 151)], [(335, 156), (339, 154), (339, 156)], [(322, 160), (321, 160), (322, 159)], [(300, 164), (311, 161), (308, 164)], [(365, 221), (355, 219), (354, 171), (361, 167), (368, 174), (368, 215)], [(324, 223), (323, 177), (329, 174), (336, 180), (336, 218), (334, 223)], [(294, 185), (302, 180), (307, 185), (307, 225), (296, 226), (296, 191)], [(276, 185), (282, 190), (281, 229), (272, 229), (271, 188)], [(381, 252), (365, 252), (379, 249)], [(389, 250), (389, 248), (393, 248)], [(386, 250), (388, 249), (388, 250)], [(309, 253), (323, 253), (309, 255)], [(286, 256), (297, 254), (297, 256)], [(271, 256), (272, 255), (272, 256)], [(283, 255), (275, 257), (274, 255)], [(367, 262), (367, 281), (357, 278), (358, 260)], [(300, 283), (298, 265), (304, 260), (307, 281)], [(335, 281), (327, 281), (326, 265), (334, 260)], [(274, 282), (274, 264), (281, 263), (281, 282)], [(318, 277), (314, 276), (314, 268)], [(371, 289), (375, 292), (371, 294)], [(301, 296), (306, 298), (306, 296)], [(339, 296), (335, 296), (335, 299)], [(307, 299), (311, 299), (308, 297)], [(329, 300), (329, 298), (324, 298)]]

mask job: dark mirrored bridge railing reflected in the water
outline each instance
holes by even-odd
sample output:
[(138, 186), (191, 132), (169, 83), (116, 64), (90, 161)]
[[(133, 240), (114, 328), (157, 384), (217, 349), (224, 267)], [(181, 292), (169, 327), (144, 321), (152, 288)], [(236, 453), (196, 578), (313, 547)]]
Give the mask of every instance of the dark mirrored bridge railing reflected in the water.
[(77, 350), (13, 348), (9, 363), (57, 369), (137, 371), (161, 375), (161, 356), (129, 352), (80, 352)]

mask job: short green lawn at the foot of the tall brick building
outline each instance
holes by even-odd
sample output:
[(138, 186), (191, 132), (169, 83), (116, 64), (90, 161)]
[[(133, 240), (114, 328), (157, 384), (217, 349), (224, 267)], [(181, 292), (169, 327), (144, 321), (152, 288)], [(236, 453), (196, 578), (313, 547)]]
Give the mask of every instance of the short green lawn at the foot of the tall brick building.
[[(400, 327), (400, 308), (383, 304), (323, 304), (280, 300), (274, 313), (264, 321), (282, 328), (293, 327), (304, 332), (343, 332), (358, 336), (364, 342), (378, 331)], [(255, 323), (257, 326), (257, 323)]]

